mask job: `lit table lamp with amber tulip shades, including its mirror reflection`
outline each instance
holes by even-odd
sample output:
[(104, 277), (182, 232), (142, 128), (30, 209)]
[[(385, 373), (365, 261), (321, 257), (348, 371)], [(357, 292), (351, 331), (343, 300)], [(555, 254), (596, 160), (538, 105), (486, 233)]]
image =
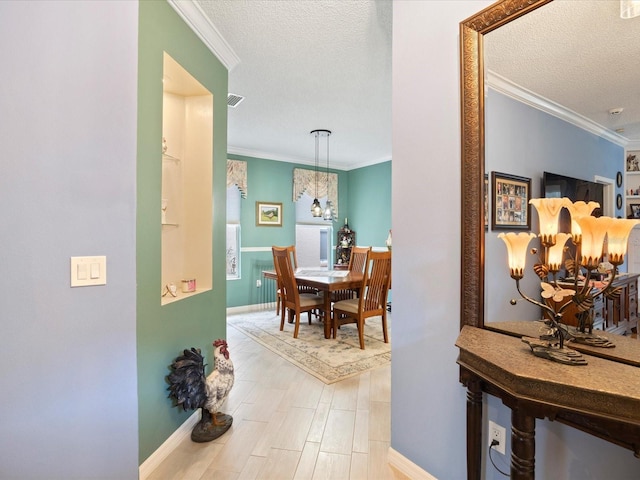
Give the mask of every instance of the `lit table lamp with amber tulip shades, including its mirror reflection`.
[[(520, 296), (528, 302), (538, 305), (546, 313), (546, 329), (539, 339), (523, 337), (532, 352), (569, 365), (585, 365), (582, 355), (565, 346), (565, 342), (580, 342), (598, 347), (613, 347), (613, 343), (604, 337), (594, 335), (590, 311), (594, 298), (604, 295), (607, 298), (620, 297), (620, 287), (614, 287), (613, 281), (618, 267), (624, 262), (627, 242), (634, 226), (639, 220), (594, 217), (597, 202), (572, 202), (568, 198), (534, 198), (530, 202), (538, 212), (540, 233), (501, 233), (509, 258), (511, 278), (516, 282)], [(566, 208), (571, 214), (571, 233), (558, 232), (560, 211)], [(539, 261), (533, 270), (540, 278), (541, 300), (527, 296), (520, 289), (520, 280), (524, 277), (527, 249), (532, 239), (540, 239)], [(570, 253), (567, 242), (571, 240), (575, 253)], [(605, 251), (606, 245), (606, 251)], [(609, 277), (596, 284), (595, 272), (603, 261), (604, 255), (612, 269)], [(565, 268), (570, 284), (560, 282), (558, 273)], [(564, 288), (571, 287), (571, 288)], [(515, 303), (512, 301), (512, 303)], [(569, 328), (563, 322), (563, 314), (570, 305), (575, 305), (578, 313), (578, 326)]]

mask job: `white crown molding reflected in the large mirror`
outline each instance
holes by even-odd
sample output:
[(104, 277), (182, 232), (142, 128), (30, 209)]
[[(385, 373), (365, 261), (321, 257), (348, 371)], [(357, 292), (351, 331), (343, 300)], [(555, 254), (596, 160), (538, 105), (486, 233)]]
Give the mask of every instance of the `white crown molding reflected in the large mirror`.
[(563, 107), (559, 103), (555, 103), (545, 97), (538, 95), (537, 93), (527, 90), (526, 88), (513, 83), (511, 80), (508, 80), (495, 72), (487, 72), (485, 84), (487, 88), (492, 88), (493, 90), (502, 93), (507, 97), (513, 98), (514, 100), (541, 110), (545, 113), (548, 113), (549, 115), (553, 115), (554, 117), (571, 123), (578, 128), (602, 137), (605, 140), (610, 141), (611, 143), (620, 145), (621, 147), (625, 147), (629, 144), (629, 139), (623, 137), (622, 135), (616, 132), (612, 132), (608, 128), (603, 127), (602, 125), (580, 115), (579, 113), (574, 112), (573, 110)]

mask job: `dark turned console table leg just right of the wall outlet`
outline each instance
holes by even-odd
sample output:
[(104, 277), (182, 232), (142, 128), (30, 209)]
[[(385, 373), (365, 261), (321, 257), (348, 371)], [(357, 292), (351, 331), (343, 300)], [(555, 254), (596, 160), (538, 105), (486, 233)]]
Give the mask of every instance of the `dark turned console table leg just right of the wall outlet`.
[(536, 419), (520, 409), (511, 411), (511, 478), (534, 480)]

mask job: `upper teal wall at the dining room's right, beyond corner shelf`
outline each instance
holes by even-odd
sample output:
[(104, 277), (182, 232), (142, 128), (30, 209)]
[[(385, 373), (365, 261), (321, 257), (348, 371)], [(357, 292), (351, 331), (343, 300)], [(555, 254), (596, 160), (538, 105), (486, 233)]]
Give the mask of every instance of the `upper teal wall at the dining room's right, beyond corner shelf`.
[(391, 229), (391, 161), (351, 170), (347, 190), (356, 243), (384, 247)]

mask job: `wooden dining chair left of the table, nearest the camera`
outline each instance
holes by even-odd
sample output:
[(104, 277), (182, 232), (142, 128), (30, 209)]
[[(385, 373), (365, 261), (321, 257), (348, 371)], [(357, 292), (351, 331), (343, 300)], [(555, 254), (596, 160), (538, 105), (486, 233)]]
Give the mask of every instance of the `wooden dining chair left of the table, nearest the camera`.
[(273, 264), (276, 268), (278, 283), (282, 295), (280, 330), (284, 330), (285, 309), (289, 309), (289, 322), (295, 320), (293, 338), (298, 338), (300, 329), (300, 315), (307, 312), (311, 324), (311, 312), (324, 312), (324, 299), (314, 293), (300, 293), (293, 270), (291, 247), (272, 247)]

